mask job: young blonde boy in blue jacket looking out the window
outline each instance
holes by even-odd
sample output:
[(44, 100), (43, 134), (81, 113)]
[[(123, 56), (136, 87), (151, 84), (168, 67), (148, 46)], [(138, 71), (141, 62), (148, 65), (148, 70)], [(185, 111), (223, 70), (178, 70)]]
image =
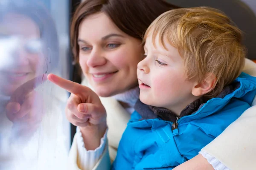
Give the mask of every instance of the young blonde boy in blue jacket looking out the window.
[(171, 170), (250, 108), (256, 77), (241, 73), (241, 39), (225, 14), (207, 7), (174, 9), (149, 26), (137, 70), (140, 100), (113, 169)]

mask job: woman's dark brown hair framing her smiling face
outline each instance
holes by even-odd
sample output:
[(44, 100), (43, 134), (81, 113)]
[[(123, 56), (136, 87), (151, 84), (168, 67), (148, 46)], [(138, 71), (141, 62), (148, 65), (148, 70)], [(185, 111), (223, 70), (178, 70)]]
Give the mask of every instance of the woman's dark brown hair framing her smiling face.
[(88, 15), (104, 12), (120, 30), (142, 40), (148, 26), (160, 14), (174, 8), (178, 7), (164, 0), (84, 0), (73, 15), (70, 28), (70, 43), (76, 61), (79, 59), (79, 25)]

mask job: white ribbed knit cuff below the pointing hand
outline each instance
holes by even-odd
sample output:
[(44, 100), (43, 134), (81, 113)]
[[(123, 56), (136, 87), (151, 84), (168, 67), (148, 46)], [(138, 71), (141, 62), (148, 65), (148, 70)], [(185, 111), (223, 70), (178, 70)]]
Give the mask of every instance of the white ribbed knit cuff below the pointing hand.
[(107, 131), (108, 130), (106, 130), (102, 137), (99, 147), (95, 150), (86, 150), (81, 130), (79, 127), (76, 128), (78, 150), (77, 165), (81, 170), (92, 170), (95, 164), (99, 161), (107, 142)]

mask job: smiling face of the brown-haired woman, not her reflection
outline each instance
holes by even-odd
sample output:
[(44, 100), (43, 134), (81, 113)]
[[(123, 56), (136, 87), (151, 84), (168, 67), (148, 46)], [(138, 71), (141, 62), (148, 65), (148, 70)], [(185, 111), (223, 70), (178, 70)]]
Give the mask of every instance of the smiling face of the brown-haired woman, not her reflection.
[(102, 97), (138, 85), (141, 40), (122, 32), (105, 13), (86, 17), (79, 26), (79, 64), (96, 94)]

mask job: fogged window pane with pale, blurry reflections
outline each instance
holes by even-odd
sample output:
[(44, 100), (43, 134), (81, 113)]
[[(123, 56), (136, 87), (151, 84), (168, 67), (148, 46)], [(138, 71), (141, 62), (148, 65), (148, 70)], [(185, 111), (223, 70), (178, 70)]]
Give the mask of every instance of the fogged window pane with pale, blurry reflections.
[(66, 167), (67, 31), (68, 0), (0, 0), (0, 170)]

